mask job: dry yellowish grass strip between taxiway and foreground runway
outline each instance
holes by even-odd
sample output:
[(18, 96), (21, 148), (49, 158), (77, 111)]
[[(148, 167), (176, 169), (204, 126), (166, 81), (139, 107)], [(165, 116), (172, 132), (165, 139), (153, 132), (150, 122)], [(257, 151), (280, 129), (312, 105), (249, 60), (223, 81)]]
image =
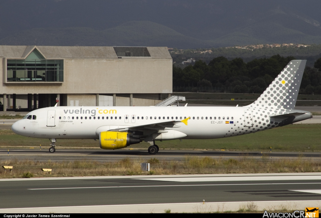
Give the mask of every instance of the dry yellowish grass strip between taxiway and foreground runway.
[[(140, 163), (150, 163), (151, 171), (142, 171)], [(40, 162), (34, 160), (2, 160), (1, 166), (13, 166), (12, 172), (0, 171), (0, 178), (107, 176), (107, 175), (172, 175), (172, 174), (231, 174), (231, 173), (301, 173), (321, 172), (321, 163), (303, 157), (262, 159), (214, 159), (187, 156), (184, 161), (165, 161), (157, 158), (123, 158), (115, 162), (78, 160), (72, 162)], [(52, 169), (52, 173), (42, 168)]]

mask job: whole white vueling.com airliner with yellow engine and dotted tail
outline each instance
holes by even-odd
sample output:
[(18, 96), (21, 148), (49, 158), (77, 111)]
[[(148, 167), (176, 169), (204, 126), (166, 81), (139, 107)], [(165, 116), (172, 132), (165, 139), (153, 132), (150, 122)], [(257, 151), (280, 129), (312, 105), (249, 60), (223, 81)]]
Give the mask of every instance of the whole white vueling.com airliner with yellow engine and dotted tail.
[(51, 140), (99, 139), (102, 149), (146, 141), (215, 139), (256, 133), (311, 118), (296, 110), (305, 60), (293, 60), (252, 104), (244, 107), (48, 107), (12, 125), (14, 133)]

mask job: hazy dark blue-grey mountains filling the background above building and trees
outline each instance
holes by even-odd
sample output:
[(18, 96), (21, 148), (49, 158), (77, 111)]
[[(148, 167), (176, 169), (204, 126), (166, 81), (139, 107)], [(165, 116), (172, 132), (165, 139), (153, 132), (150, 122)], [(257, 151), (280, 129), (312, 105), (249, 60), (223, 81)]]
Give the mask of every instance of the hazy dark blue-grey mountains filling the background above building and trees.
[(319, 0), (8, 0), (0, 7), (0, 44), (321, 44), (320, 8)]

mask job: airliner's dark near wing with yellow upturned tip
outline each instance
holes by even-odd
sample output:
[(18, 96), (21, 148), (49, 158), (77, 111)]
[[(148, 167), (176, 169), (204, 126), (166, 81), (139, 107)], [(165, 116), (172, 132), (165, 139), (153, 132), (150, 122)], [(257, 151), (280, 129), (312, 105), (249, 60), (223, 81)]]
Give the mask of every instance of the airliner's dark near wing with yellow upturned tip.
[(176, 125), (178, 123), (184, 123), (187, 125), (187, 120), (189, 120), (191, 117), (187, 117), (184, 120), (171, 120), (166, 122), (160, 122), (160, 123), (153, 123), (153, 124), (146, 124), (146, 125), (138, 125), (138, 126), (130, 126), (126, 128), (118, 128), (118, 129), (111, 129), (109, 131), (127, 131), (129, 130), (161, 130), (167, 128), (177, 128), (180, 127), (179, 125)]

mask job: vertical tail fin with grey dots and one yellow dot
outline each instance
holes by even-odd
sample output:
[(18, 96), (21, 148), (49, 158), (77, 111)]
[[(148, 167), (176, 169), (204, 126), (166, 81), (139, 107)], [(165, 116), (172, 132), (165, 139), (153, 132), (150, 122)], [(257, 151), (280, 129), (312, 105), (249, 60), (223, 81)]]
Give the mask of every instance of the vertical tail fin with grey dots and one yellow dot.
[(248, 107), (294, 109), (306, 62), (290, 61), (261, 96)]

